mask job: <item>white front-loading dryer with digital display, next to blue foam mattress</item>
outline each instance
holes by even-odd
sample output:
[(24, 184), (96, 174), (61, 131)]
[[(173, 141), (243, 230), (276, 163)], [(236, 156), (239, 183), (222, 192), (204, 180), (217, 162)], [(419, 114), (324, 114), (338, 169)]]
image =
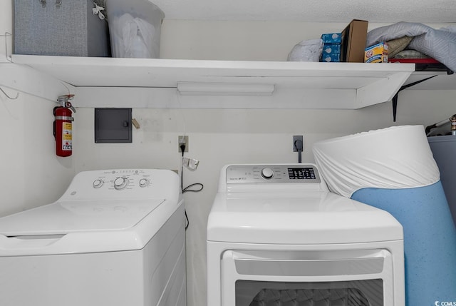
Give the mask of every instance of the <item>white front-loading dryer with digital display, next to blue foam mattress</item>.
[(403, 228), (316, 165), (227, 165), (207, 224), (207, 305), (403, 306)]

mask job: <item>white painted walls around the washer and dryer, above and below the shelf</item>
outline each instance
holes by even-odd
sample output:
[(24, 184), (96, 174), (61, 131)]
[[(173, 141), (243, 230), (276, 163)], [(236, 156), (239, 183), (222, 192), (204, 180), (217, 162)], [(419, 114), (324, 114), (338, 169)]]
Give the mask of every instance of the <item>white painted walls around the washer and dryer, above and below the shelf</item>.
[[(10, 1), (2, 1), (0, 33), (4, 32), (2, 28), (11, 29), (9, 11)], [(338, 31), (343, 26), (165, 21), (160, 52), (162, 58), (283, 61), (299, 41), (318, 38), (321, 33)], [(304, 135), (303, 159), (313, 161), (311, 146), (315, 141), (400, 124), (427, 126), (456, 113), (456, 91), (410, 90), (400, 93), (396, 123), (392, 121), (390, 103), (356, 111), (134, 109), (133, 117), (141, 127), (133, 131), (133, 143), (95, 144), (93, 108), (79, 108), (74, 115), (74, 154), (62, 159), (53, 154), (53, 103), (26, 94), (16, 101), (1, 95), (0, 215), (49, 203), (63, 193), (74, 171), (179, 169), (177, 136), (189, 136), (187, 156), (201, 163), (195, 172), (185, 170), (185, 185), (204, 184), (201, 193), (185, 193), (190, 218), (189, 306), (205, 305), (205, 227), (222, 165), (296, 162), (297, 155), (291, 152), (293, 135)]]

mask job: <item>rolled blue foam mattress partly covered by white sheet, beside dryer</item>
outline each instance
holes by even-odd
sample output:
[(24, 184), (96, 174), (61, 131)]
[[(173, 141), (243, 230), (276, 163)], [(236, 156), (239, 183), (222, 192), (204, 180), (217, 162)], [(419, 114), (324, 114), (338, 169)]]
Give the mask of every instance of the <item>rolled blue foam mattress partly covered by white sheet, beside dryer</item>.
[(424, 126), (319, 141), (313, 151), (331, 191), (403, 225), (406, 305), (456, 305), (456, 229)]

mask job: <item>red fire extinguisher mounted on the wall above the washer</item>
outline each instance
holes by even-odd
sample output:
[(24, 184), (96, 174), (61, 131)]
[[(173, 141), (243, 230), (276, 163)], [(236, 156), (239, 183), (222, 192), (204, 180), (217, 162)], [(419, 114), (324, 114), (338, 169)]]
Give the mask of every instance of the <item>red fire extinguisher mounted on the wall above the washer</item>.
[(54, 123), (53, 133), (56, 138), (56, 155), (70, 156), (73, 153), (73, 117), (72, 110), (76, 113), (76, 109), (71, 106), (71, 100), (74, 95), (59, 96), (58, 102), (61, 106), (56, 106), (53, 109)]

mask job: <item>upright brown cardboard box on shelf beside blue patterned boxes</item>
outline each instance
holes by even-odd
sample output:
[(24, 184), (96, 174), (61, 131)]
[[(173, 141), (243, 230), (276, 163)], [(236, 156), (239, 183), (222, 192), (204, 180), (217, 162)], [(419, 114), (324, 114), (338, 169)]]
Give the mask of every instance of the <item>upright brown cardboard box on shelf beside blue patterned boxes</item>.
[(342, 31), (341, 61), (364, 62), (368, 21), (353, 19)]

